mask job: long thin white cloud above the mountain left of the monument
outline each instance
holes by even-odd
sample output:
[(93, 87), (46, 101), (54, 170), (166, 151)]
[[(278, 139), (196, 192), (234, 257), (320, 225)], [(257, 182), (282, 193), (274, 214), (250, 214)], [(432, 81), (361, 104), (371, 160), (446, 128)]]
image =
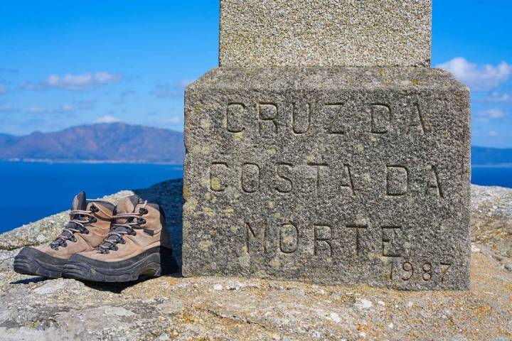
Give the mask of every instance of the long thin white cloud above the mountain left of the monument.
[(72, 75), (68, 73), (63, 76), (50, 75), (42, 82), (27, 82), (21, 85), (21, 87), (27, 90), (61, 89), (78, 91), (100, 87), (109, 83), (118, 82), (119, 80), (122, 80), (122, 75), (108, 72), (88, 72), (83, 75)]

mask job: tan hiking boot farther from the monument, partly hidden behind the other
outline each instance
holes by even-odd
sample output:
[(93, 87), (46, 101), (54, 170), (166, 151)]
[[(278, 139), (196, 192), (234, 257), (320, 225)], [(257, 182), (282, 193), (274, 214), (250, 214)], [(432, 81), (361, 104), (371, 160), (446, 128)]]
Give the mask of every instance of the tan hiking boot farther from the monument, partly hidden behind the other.
[(23, 247), (14, 258), (18, 274), (58, 278), (73, 254), (90, 251), (101, 244), (110, 231), (115, 205), (105, 200), (87, 201), (78, 193), (71, 205), (71, 220), (49, 245)]

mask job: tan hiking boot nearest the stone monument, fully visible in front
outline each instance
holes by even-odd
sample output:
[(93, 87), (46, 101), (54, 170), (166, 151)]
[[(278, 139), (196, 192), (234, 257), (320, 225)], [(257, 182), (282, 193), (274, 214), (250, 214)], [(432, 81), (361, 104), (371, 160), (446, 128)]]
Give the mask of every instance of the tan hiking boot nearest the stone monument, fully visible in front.
[(129, 282), (141, 275), (177, 270), (165, 215), (157, 204), (137, 195), (117, 203), (110, 233), (94, 251), (81, 252), (65, 265), (63, 276), (96, 282)]

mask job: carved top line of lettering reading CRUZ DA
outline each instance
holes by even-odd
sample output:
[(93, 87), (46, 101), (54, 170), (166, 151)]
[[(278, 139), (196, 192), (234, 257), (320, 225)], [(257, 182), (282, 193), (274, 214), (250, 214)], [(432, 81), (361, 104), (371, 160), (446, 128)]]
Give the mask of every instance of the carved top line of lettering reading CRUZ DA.
[(228, 133), (238, 134), (249, 128), (244, 126), (244, 120), (257, 119), (260, 135), (264, 137), (272, 137), (279, 132), (294, 136), (345, 135), (349, 132), (348, 126), (352, 125), (349, 124), (351, 117), (358, 117), (358, 122), (364, 124), (367, 120), (359, 113), (369, 112), (370, 124), (366, 124), (365, 131), (370, 134), (402, 131), (403, 134), (416, 132), (418, 136), (424, 136), (430, 132), (425, 119), (427, 115), (420, 104), (398, 108), (382, 102), (365, 102), (358, 108), (360, 105), (355, 102), (230, 102), (225, 107), (223, 128)]

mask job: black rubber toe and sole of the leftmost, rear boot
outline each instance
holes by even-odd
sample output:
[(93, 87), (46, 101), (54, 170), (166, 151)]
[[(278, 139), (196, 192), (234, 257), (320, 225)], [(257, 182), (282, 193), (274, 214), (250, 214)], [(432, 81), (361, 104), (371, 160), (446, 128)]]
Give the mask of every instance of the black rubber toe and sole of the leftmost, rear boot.
[(68, 259), (49, 256), (33, 247), (23, 247), (14, 257), (14, 271), (18, 274), (59, 278)]

